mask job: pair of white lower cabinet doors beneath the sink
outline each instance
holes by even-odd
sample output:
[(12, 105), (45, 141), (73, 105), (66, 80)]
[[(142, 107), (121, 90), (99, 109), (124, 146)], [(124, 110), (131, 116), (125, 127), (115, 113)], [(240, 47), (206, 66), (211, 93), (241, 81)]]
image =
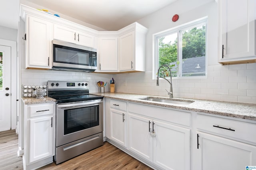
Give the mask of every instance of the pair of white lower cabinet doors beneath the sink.
[(190, 169), (190, 129), (128, 114), (128, 149), (165, 170)]

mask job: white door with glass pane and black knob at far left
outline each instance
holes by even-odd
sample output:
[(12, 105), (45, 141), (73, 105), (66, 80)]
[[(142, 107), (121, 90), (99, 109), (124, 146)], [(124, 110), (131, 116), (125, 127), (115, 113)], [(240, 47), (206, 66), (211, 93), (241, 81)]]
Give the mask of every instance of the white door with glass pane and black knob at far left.
[(11, 47), (0, 45), (0, 131), (11, 129)]

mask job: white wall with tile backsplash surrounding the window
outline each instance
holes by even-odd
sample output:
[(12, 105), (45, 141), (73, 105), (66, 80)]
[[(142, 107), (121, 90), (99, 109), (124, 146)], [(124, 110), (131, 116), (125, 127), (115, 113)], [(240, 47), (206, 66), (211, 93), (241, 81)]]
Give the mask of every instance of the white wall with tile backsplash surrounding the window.
[[(170, 89), (168, 82), (160, 80), (160, 85), (156, 86), (156, 80), (152, 80), (152, 69), (154, 69), (152, 67), (152, 34), (208, 16), (207, 78), (174, 78), (174, 97), (256, 104), (256, 63), (229, 66), (218, 63), (218, 4), (209, 0), (207, 4), (202, 2), (206, 1), (178, 0), (138, 21), (148, 28), (147, 71), (114, 75), (117, 92), (168, 96), (165, 91)], [(195, 8), (195, 6), (199, 7)], [(179, 20), (176, 22), (171, 21), (174, 14), (179, 15)]]

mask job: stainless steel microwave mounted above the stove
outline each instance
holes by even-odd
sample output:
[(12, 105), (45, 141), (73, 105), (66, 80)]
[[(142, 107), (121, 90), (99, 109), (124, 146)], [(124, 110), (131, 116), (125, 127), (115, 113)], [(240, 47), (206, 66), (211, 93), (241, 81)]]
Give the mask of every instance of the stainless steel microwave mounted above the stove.
[(93, 72), (97, 69), (97, 50), (82, 45), (52, 40), (52, 70)]

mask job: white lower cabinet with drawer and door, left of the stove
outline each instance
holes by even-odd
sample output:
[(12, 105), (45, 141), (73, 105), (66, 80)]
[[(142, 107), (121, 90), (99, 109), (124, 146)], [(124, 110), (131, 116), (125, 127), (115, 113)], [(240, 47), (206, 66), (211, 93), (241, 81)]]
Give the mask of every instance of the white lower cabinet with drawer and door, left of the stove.
[(22, 104), (24, 120), (23, 169), (53, 162), (55, 154), (55, 102)]

